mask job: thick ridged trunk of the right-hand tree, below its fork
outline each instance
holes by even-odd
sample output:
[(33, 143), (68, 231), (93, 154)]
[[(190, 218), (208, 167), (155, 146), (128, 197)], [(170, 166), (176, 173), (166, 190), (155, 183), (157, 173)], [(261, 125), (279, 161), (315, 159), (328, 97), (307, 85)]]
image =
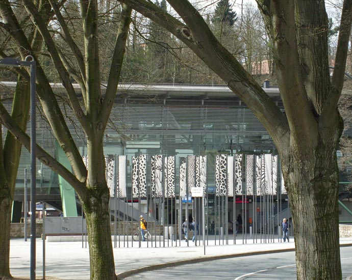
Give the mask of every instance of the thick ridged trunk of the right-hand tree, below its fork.
[(297, 279), (342, 278), (336, 158), (340, 129), (322, 131), (319, 136), (311, 137), (319, 139), (316, 145), (307, 139), (302, 139), (299, 147), (293, 148), (291, 144), (288, 160), (286, 178), (294, 225)]

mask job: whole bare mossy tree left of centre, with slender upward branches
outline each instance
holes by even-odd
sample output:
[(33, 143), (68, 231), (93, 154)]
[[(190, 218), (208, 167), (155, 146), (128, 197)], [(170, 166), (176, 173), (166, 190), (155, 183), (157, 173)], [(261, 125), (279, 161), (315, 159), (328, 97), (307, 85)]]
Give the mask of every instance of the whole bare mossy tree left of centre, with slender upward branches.
[[(115, 35), (115, 45), (110, 58), (108, 82), (103, 93), (100, 85), (98, 2), (96, 0), (80, 1), (80, 8), (77, 11), (80, 13), (79, 18), (83, 32), (81, 33), (81, 41), (76, 42), (75, 39), (78, 38), (78, 35), (71, 33), (70, 27), (72, 26), (67, 24), (58, 3), (55, 0), (43, 1), (43, 5), (51, 7), (55, 13), (60, 26), (60, 36), (63, 38), (66, 48), (71, 52), (70, 57), (65, 55), (60, 45), (57, 44), (58, 41), (51, 33), (51, 26), (48, 26), (48, 22), (43, 19), (39, 7), (31, 0), (23, 0), (22, 3), (45, 42), (47, 52), (55, 65), (57, 76), (66, 90), (70, 106), (87, 138), (88, 162), (86, 167), (64, 121), (58, 100), (49, 85), (38, 53), (31, 46), (26, 33), (23, 32), (25, 25), (20, 25), (17, 20), (17, 17), (22, 15), (23, 9), (14, 10), (12, 2), (2, 0), (0, 2), (2, 26), (9, 32), (17, 47), (26, 49), (37, 61), (37, 94), (55, 137), (70, 161), (72, 172), (65, 169), (39, 146), (37, 146), (37, 157), (71, 184), (79, 195), (87, 221), (91, 279), (115, 279), (110, 229), (110, 191), (105, 178), (103, 137), (115, 100), (132, 10), (128, 6), (122, 5)], [(71, 5), (78, 5), (78, 3), (71, 3)], [(107, 7), (104, 5), (105, 11), (108, 9)], [(102, 29), (100, 29), (101, 31)], [(82, 42), (82, 47), (80, 47)], [(73, 89), (73, 80), (81, 86), (82, 100)], [(1, 103), (0, 111), (2, 124), (6, 125), (21, 144), (29, 149), (29, 137), (10, 118)]]

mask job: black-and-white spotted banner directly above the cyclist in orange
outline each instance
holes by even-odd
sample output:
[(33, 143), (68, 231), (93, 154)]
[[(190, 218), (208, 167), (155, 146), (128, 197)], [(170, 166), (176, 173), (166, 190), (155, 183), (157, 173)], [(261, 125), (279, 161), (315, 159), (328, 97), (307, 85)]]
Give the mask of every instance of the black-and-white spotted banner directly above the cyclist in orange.
[(132, 195), (134, 198), (146, 197), (146, 156), (132, 157)]

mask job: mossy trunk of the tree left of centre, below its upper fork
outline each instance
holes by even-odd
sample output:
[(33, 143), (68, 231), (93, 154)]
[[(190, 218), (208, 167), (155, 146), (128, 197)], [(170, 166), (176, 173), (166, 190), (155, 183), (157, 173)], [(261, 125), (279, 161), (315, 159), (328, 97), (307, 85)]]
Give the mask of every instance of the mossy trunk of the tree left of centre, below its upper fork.
[(105, 157), (100, 137), (87, 137), (88, 179), (81, 199), (87, 221), (90, 279), (116, 279), (110, 227), (110, 191), (105, 178)]

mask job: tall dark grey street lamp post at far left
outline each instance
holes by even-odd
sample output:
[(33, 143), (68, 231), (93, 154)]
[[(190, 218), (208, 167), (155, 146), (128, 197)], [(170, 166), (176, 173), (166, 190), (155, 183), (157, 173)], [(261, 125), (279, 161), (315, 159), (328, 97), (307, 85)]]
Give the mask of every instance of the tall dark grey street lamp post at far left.
[[(30, 60), (30, 61), (29, 61)], [(13, 58), (0, 60), (0, 66), (30, 67), (31, 72), (31, 280), (35, 280), (36, 266), (36, 62), (32, 55), (24, 61)], [(27, 217), (26, 217), (27, 218)]]

